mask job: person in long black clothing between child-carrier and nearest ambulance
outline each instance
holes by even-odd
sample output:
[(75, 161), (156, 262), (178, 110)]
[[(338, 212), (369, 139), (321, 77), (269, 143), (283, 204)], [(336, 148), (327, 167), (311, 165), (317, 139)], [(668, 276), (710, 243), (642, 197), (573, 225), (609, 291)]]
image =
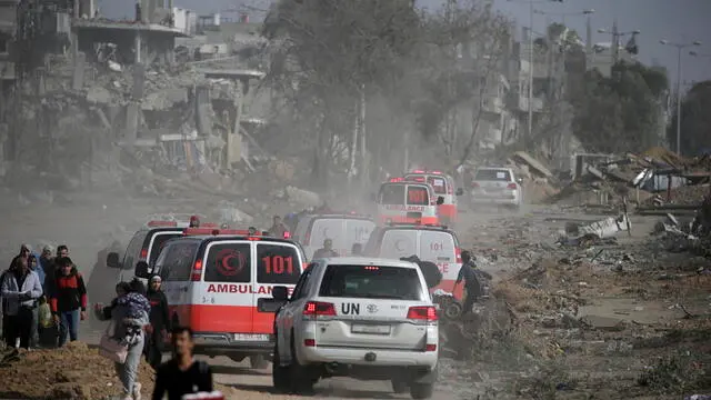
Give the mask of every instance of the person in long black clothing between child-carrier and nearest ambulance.
[(150, 326), (148, 327), (148, 338), (146, 340), (146, 361), (158, 370), (163, 356), (163, 341), (170, 332), (170, 313), (168, 310), (168, 299), (160, 289), (161, 279), (153, 276), (148, 287), (148, 301), (151, 304), (149, 314)]

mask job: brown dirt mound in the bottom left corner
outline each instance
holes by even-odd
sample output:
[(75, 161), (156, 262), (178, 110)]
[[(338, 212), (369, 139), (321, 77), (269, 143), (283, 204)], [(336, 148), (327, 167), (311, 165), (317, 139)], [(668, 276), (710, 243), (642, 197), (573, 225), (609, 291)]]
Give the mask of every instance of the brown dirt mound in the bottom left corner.
[[(141, 360), (138, 380), (146, 398), (153, 391), (154, 377)], [(0, 382), (2, 398), (98, 400), (121, 393), (113, 362), (78, 341), (61, 349), (21, 349), (16, 360), (0, 364)], [(228, 397), (233, 391), (221, 384), (217, 390)]]

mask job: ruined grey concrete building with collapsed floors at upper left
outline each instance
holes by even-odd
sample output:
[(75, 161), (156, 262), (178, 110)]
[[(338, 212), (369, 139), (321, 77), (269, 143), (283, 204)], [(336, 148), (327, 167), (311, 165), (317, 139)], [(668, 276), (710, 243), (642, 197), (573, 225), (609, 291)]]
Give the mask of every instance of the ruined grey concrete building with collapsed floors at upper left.
[[(0, 6), (12, 11), (0, 21), (8, 186), (29, 173), (91, 184), (121, 164), (253, 169), (249, 149), (259, 144), (249, 132), (261, 120), (246, 114), (244, 102), (264, 73), (237, 62), (177, 63), (176, 40), (189, 30), (174, 26), (172, 1), (142, 0), (129, 21), (102, 18), (92, 0)], [(17, 162), (28, 149), (52, 157)]]

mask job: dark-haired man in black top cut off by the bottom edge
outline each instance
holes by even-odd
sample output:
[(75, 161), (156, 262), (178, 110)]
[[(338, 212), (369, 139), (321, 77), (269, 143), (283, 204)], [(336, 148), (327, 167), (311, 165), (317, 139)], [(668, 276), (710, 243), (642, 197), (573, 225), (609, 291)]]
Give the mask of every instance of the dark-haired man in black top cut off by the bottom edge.
[(212, 370), (207, 362), (194, 359), (192, 330), (188, 327), (174, 327), (171, 343), (173, 357), (158, 368), (152, 400), (162, 400), (166, 393), (168, 400), (181, 400), (186, 394), (211, 392)]

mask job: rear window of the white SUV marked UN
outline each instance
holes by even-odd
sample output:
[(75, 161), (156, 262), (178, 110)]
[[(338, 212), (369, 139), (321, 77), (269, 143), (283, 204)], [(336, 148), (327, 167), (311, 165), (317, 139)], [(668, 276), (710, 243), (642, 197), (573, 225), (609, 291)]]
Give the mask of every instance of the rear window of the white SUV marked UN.
[(423, 300), (415, 269), (380, 266), (329, 266), (323, 273), (319, 296)]

